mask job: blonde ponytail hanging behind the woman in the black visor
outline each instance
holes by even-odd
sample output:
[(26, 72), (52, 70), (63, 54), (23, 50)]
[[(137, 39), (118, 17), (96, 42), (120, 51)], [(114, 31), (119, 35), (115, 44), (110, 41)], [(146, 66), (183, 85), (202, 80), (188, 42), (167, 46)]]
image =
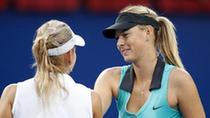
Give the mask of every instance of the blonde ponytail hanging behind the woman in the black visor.
[(175, 27), (166, 17), (157, 17), (160, 30), (157, 32), (156, 47), (159, 48), (169, 64), (184, 68), (179, 56), (178, 44), (176, 40)]

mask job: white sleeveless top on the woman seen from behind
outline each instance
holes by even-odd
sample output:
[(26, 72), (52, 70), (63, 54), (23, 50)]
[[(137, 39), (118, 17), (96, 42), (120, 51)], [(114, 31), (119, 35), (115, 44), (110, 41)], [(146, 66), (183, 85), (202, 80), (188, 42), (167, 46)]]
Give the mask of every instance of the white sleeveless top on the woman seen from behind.
[(19, 82), (13, 118), (92, 118), (91, 89), (75, 83), (67, 74), (59, 75), (59, 79), (68, 94), (57, 94), (47, 108), (37, 96), (34, 78)]

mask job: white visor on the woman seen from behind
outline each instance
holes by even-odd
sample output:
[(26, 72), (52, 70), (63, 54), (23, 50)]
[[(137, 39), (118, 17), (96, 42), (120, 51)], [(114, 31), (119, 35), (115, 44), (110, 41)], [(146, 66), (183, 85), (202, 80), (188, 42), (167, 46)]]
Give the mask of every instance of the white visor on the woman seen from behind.
[(81, 36), (74, 34), (72, 31), (72, 38), (59, 47), (48, 49), (48, 55), (59, 56), (65, 54), (74, 46), (85, 46), (85, 40)]

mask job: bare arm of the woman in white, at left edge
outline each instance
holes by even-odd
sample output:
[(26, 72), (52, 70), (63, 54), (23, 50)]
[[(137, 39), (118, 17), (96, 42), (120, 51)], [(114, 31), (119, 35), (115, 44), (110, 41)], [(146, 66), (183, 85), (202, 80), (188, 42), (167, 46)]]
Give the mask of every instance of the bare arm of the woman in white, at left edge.
[(12, 106), (16, 93), (16, 85), (7, 86), (0, 99), (0, 118), (12, 118)]

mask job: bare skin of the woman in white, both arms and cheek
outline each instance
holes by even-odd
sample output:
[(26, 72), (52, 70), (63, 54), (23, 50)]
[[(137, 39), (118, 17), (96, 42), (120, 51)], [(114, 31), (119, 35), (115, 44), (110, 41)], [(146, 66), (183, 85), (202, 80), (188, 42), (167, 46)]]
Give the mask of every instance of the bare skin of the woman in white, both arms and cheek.
[[(69, 68), (72, 68), (76, 62), (75, 48), (69, 51), (65, 58), (68, 59), (69, 63), (71, 63)], [(0, 99), (0, 118), (13, 118), (12, 107), (15, 99), (16, 88), (16, 84), (10, 84), (4, 89)], [(102, 105), (100, 96), (96, 92), (92, 91), (91, 100), (93, 118), (102, 118)]]

